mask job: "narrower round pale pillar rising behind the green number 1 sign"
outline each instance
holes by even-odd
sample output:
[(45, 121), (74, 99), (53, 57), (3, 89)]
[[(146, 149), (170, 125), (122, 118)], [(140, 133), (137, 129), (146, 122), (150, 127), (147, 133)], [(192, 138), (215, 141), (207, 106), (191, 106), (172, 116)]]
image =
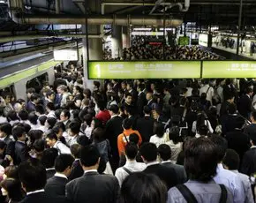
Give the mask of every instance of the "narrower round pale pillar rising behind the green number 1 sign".
[(112, 58), (117, 58), (122, 56), (122, 26), (112, 27)]

